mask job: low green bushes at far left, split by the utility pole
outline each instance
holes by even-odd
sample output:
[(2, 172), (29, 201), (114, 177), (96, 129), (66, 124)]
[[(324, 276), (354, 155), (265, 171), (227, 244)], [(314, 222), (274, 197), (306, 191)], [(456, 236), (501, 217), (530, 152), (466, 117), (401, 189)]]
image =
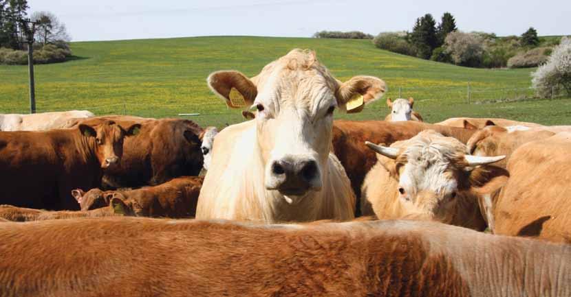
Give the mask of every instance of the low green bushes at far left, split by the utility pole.
[[(60, 48), (56, 45), (45, 45), (41, 49), (35, 49), (34, 46), (34, 64), (64, 62), (69, 56), (72, 56), (72, 52), (69, 51), (69, 49)], [(0, 64), (28, 64), (28, 52), (12, 49), (0, 49)]]

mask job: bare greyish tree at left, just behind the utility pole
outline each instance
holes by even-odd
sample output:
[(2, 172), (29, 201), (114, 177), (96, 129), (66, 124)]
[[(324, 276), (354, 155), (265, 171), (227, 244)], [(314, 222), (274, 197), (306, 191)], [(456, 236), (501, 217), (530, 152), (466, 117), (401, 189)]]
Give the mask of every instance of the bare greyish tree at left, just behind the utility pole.
[(67, 34), (65, 24), (61, 23), (52, 12), (34, 12), (32, 21), (37, 22), (34, 38), (43, 45), (56, 43), (57, 41), (69, 42), (71, 39), (69, 34)]

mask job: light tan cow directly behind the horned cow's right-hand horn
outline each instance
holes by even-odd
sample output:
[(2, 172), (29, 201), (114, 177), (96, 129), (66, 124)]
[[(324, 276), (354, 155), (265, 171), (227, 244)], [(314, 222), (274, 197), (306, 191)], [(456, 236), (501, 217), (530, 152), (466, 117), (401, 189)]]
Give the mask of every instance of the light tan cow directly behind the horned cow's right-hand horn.
[(496, 166), (506, 168), (506, 163), (517, 147), (546, 139), (555, 133), (543, 130), (543, 128), (528, 128), (526, 126), (486, 126), (478, 130), (466, 143), (466, 152), (474, 156), (498, 156), (506, 158), (495, 163)]

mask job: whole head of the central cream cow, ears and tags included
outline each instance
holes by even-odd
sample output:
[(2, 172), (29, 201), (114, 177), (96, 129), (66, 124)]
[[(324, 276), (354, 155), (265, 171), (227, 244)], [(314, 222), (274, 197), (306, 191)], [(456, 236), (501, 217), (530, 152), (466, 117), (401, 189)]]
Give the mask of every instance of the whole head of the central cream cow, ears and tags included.
[(264, 166), (268, 190), (279, 191), (292, 203), (323, 186), (330, 152), (333, 112), (358, 110), (385, 93), (385, 82), (356, 76), (339, 82), (313, 51), (294, 49), (266, 65), (250, 79), (237, 71), (218, 71), (208, 85), (230, 107), (236, 99), (257, 110), (257, 154)]

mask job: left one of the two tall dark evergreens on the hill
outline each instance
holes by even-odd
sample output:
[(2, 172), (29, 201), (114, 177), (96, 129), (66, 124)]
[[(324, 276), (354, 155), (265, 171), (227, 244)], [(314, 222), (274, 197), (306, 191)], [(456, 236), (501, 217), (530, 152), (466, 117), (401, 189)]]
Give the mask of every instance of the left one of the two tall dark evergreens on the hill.
[(416, 47), (419, 58), (430, 58), (433, 49), (438, 47), (435, 25), (436, 22), (431, 14), (425, 14), (416, 19), (411, 33), (411, 42)]

